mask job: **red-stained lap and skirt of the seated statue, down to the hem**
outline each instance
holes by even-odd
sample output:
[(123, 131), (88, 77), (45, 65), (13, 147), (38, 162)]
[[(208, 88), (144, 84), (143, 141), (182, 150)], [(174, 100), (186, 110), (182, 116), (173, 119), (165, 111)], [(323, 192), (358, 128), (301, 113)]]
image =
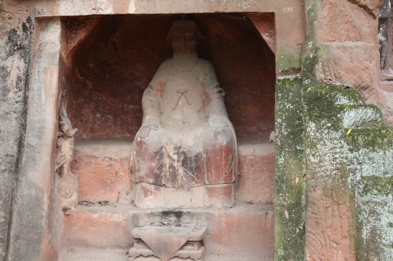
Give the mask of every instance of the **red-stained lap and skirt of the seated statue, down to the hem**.
[(207, 122), (183, 131), (159, 128), (135, 140), (135, 182), (181, 189), (232, 183), (235, 145), (231, 128), (212, 128)]

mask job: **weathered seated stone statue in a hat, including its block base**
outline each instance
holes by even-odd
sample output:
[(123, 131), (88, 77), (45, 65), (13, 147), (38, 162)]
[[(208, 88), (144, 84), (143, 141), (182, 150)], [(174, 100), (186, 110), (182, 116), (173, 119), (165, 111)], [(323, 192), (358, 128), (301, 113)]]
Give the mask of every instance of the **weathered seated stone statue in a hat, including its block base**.
[(164, 61), (143, 93), (142, 126), (131, 154), (137, 206), (233, 204), (237, 141), (213, 66), (198, 58), (193, 21), (175, 21)]

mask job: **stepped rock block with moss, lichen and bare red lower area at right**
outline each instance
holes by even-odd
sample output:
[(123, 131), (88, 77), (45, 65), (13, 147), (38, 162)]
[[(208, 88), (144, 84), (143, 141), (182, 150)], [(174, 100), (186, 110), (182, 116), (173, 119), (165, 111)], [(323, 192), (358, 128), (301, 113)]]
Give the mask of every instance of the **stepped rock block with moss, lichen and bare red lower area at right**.
[(389, 260), (393, 131), (353, 89), (306, 88), (306, 260)]

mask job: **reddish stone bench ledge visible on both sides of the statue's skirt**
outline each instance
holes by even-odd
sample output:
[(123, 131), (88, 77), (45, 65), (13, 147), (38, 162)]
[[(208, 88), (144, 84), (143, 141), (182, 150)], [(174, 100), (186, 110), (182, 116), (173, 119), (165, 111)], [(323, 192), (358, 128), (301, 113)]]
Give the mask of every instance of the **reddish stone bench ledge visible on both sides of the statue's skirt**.
[[(133, 201), (131, 146), (129, 139), (75, 141), (71, 170), (79, 176), (79, 200)], [(236, 202), (273, 202), (274, 153), (274, 142), (269, 139), (239, 139), (240, 190), (235, 186), (233, 191)]]

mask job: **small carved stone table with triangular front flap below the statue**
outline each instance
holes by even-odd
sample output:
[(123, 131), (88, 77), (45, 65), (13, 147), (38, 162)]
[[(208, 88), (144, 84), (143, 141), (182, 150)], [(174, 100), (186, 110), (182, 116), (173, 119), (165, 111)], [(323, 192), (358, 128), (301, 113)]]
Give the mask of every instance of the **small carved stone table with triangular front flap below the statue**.
[(203, 261), (205, 232), (204, 227), (137, 227), (132, 231), (130, 261)]

